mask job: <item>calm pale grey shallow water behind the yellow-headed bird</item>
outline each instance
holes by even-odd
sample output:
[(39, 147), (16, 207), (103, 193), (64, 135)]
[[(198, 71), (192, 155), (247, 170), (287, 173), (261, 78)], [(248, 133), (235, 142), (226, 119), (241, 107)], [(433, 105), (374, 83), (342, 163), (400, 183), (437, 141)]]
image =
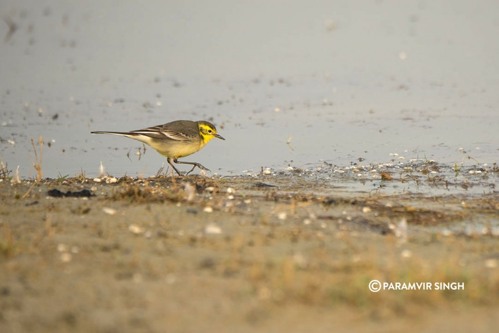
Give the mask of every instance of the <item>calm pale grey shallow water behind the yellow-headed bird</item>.
[(42, 136), (45, 177), (95, 176), (101, 162), (116, 176), (147, 176), (163, 157), (146, 149), (139, 159), (139, 142), (90, 131), (204, 119), (227, 140), (184, 160), (219, 174), (410, 159), (490, 166), (498, 9), (2, 1), (17, 29), (0, 48), (0, 155), (33, 177), (30, 139)]

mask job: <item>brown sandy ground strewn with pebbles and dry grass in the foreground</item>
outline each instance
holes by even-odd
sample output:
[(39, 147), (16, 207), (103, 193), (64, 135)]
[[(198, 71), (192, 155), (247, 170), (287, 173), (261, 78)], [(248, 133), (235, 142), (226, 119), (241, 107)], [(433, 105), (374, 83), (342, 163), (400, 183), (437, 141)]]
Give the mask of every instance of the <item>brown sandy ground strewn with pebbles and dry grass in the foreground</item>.
[[(493, 332), (499, 324), (498, 234), (487, 227), (499, 217), (497, 193), (314, 195), (325, 189), (264, 175), (101, 180), (0, 182), (1, 332)], [(452, 231), (463, 221), (486, 227)], [(373, 279), (465, 289), (373, 293)]]

